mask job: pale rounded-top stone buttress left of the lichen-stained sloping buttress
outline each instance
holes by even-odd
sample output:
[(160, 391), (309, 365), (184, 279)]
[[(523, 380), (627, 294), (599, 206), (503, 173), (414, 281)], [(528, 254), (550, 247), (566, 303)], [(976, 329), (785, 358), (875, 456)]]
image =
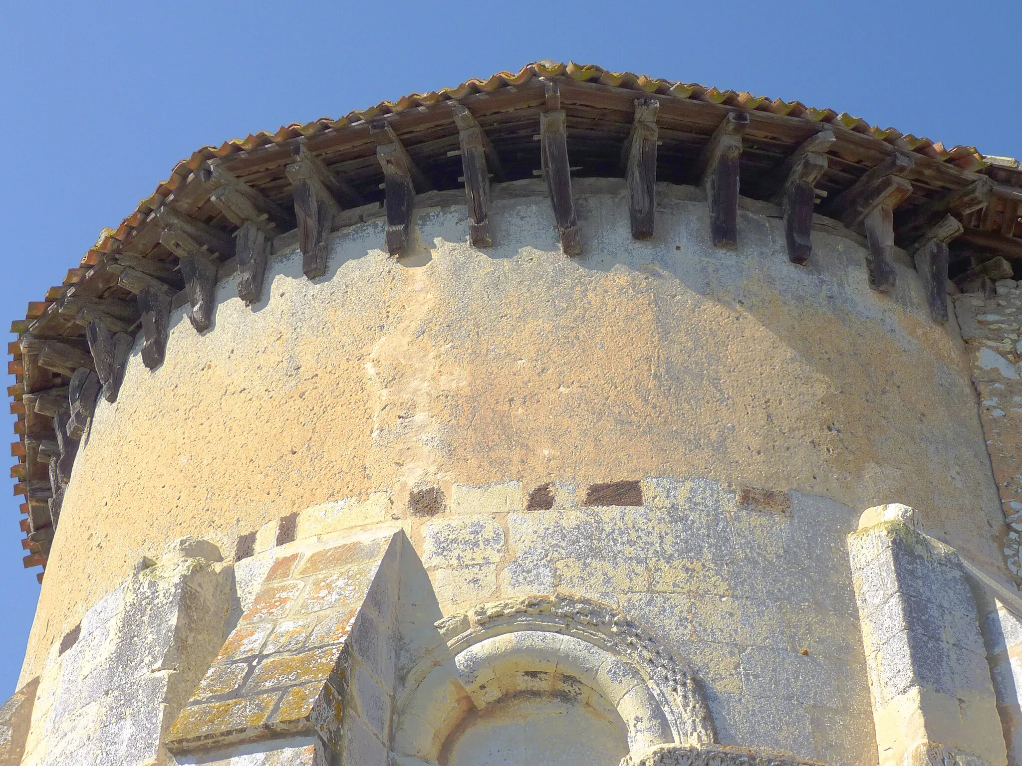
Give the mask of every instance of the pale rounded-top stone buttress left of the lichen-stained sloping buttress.
[(33, 711), (25, 766), (150, 766), (224, 640), (231, 572), (201, 540), (168, 546), (54, 648)]

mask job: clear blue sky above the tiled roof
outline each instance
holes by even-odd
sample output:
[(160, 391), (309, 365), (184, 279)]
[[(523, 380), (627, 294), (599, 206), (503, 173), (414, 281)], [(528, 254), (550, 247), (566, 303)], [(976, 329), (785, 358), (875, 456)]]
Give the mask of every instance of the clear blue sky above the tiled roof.
[[(6, 329), (22, 318), (203, 144), (542, 58), (795, 99), (1022, 156), (1020, 21), (1018, 0), (0, 0), (0, 319)], [(12, 440), (9, 423), (0, 430)], [(38, 570), (21, 568), (17, 506), (7, 490), (0, 701), (39, 593)]]

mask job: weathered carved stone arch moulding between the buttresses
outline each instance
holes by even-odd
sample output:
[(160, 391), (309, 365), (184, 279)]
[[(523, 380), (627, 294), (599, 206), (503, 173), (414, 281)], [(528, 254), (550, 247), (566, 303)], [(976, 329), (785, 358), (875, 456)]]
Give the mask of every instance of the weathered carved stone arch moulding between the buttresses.
[(715, 739), (688, 665), (637, 621), (577, 595), (530, 595), (476, 606), (436, 623), (445, 639), (407, 675), (394, 700), (398, 763), (436, 764), (471, 711), (518, 693), (552, 692), (616, 709), (628, 758)]

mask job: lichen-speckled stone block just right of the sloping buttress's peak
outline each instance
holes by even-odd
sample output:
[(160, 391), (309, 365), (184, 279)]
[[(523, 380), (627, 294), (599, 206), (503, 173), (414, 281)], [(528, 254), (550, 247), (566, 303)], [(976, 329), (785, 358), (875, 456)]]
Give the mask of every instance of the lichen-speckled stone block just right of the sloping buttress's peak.
[(423, 531), (422, 563), (427, 569), (496, 564), (505, 556), (506, 542), (504, 530), (491, 516), (437, 517)]

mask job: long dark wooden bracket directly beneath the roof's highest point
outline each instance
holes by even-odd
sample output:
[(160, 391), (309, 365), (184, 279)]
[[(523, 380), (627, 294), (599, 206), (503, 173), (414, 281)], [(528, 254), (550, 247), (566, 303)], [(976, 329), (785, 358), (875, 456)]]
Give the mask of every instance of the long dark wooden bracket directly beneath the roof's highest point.
[[(568, 161), (567, 112), (560, 108), (557, 83), (545, 83), (547, 110), (540, 112), (540, 155), (547, 181), (554, 220), (565, 255), (582, 254), (582, 232), (571, 193), (571, 163)], [(552, 109), (551, 106), (558, 108)]]

